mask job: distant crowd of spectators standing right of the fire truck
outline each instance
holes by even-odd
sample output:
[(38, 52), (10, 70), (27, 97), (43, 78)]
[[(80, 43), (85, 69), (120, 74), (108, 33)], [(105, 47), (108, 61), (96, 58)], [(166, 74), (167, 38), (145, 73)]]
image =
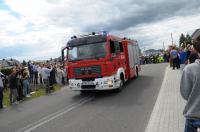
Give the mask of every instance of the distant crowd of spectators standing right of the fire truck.
[(188, 44), (187, 46), (176, 47), (176, 45), (170, 45), (163, 53), (144, 55), (140, 58), (141, 64), (152, 64), (169, 62), (170, 67), (174, 70), (175, 68), (183, 68), (186, 64), (194, 63), (198, 59), (198, 55), (193, 48), (193, 45)]

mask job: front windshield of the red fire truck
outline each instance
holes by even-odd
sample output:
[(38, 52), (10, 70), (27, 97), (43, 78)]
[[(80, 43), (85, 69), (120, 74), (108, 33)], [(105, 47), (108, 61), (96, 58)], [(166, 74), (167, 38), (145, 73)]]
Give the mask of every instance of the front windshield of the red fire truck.
[(99, 59), (106, 56), (106, 42), (68, 47), (68, 60)]

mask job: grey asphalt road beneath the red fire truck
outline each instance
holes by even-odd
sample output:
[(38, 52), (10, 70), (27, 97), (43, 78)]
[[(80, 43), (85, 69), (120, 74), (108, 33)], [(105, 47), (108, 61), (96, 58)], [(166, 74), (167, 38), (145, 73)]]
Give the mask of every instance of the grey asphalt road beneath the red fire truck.
[(120, 93), (81, 95), (66, 87), (0, 110), (0, 132), (144, 132), (166, 66), (143, 66)]

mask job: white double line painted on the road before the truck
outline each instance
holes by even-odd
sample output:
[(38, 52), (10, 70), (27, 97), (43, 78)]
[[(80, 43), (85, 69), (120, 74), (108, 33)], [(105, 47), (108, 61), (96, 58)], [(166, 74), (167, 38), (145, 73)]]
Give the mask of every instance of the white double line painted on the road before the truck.
[(73, 104), (63, 108), (62, 110), (54, 112), (46, 117), (43, 117), (42, 119), (40, 119), (34, 123), (31, 123), (28, 126), (21, 128), (16, 132), (31, 132), (32, 130), (50, 122), (51, 120), (54, 120), (55, 118), (58, 118), (59, 116), (64, 115), (65, 113), (68, 113), (68, 112), (78, 108), (79, 106), (91, 101), (92, 99), (94, 99), (94, 97), (83, 98), (82, 100), (80, 100), (76, 103), (73, 103)]

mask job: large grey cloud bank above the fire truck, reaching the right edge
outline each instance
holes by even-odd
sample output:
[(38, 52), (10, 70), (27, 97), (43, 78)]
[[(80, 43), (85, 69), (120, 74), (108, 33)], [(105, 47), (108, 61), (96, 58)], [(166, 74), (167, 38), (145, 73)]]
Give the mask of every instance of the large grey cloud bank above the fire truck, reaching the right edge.
[(200, 10), (198, 0), (47, 1), (56, 5), (46, 13), (50, 23), (61, 27), (76, 27), (85, 32), (125, 30), (173, 16), (195, 14)]

